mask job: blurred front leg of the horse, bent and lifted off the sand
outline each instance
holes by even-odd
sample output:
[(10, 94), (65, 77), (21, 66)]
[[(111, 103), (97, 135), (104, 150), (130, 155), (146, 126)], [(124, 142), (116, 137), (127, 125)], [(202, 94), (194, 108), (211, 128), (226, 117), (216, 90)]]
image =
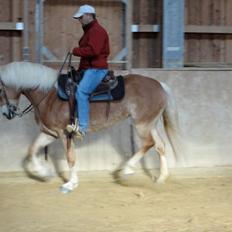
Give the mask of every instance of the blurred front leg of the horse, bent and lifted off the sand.
[[(41, 161), (37, 157), (37, 153), (39, 149), (47, 146), (48, 144), (52, 143), (56, 138), (45, 134), (44, 132), (41, 132), (35, 141), (30, 145), (28, 150), (28, 156), (27, 159), (31, 161), (32, 163), (32, 169), (36, 174), (41, 178), (46, 178), (50, 175), (50, 172), (47, 167), (45, 167)], [(28, 169), (28, 166), (25, 167), (26, 171), (31, 173), (31, 171)]]

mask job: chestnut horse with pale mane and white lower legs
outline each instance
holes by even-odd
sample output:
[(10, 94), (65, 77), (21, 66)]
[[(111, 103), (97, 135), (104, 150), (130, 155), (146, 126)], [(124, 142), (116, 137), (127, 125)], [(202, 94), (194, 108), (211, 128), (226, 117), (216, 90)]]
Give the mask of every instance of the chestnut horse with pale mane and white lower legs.
[[(48, 170), (37, 157), (39, 149), (61, 138), (66, 149), (69, 165), (69, 180), (61, 186), (63, 192), (74, 190), (79, 183), (74, 154), (74, 142), (67, 147), (65, 128), (69, 123), (69, 105), (57, 96), (58, 72), (41, 64), (13, 62), (0, 67), (0, 106), (8, 119), (18, 112), (21, 94), (34, 107), (35, 119), (40, 133), (30, 145), (27, 162), (39, 177), (46, 177)], [(124, 77), (125, 96), (120, 101), (111, 102), (108, 118), (106, 103), (90, 104), (89, 131), (110, 127), (118, 121), (132, 118), (133, 126), (141, 140), (139, 150), (122, 166), (122, 175), (132, 174), (136, 164), (146, 152), (154, 147), (160, 158), (160, 175), (157, 182), (164, 182), (169, 176), (165, 144), (157, 130), (157, 123), (164, 125), (167, 138), (175, 152), (178, 137), (178, 114), (170, 88), (152, 78), (129, 74)], [(122, 176), (121, 175), (121, 176)]]

